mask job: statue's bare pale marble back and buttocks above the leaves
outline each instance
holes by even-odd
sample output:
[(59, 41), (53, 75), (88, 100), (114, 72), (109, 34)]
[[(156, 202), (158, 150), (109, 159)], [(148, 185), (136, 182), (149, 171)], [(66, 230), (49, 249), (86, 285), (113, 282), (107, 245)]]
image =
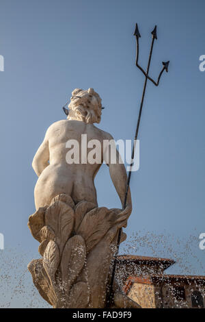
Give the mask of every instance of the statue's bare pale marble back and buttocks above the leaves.
[[(74, 201), (97, 204), (94, 176), (103, 162), (105, 132), (93, 124), (62, 120), (53, 123), (46, 134), (49, 147), (49, 166), (42, 171), (35, 187), (36, 208), (49, 204), (59, 193), (70, 195)], [(87, 148), (91, 140), (98, 140), (98, 162), (89, 162)], [(85, 152), (87, 150), (87, 153)], [(88, 155), (88, 160), (87, 160)]]

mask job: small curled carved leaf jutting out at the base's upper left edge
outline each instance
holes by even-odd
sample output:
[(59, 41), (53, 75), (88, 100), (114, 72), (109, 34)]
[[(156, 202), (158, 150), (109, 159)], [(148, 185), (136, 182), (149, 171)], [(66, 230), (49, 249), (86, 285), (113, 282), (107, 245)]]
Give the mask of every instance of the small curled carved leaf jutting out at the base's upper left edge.
[(40, 230), (44, 227), (44, 214), (46, 211), (47, 206), (39, 208), (34, 214), (29, 216), (29, 230), (33, 238), (41, 242), (40, 240)]

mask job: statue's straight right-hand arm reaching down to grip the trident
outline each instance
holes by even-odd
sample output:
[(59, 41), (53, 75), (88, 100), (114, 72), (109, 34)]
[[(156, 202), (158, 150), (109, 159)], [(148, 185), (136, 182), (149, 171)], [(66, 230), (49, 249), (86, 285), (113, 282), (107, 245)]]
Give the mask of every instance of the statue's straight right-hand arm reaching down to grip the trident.
[[(113, 137), (109, 134), (109, 140), (113, 140)], [(108, 147), (107, 147), (108, 149)], [(109, 173), (111, 176), (111, 180), (113, 182), (113, 185), (115, 186), (115, 190), (118, 193), (118, 196), (120, 197), (120, 201), (122, 203), (122, 208), (124, 206), (124, 197), (126, 194), (126, 184), (127, 184), (127, 175), (126, 175), (126, 169), (124, 167), (123, 163), (120, 163), (120, 155), (116, 147), (112, 147), (112, 149), (115, 149), (114, 153), (116, 153), (116, 162), (113, 164), (111, 162), (111, 156), (107, 158), (107, 165), (109, 166)], [(111, 151), (111, 150), (107, 150)], [(126, 199), (126, 208), (123, 210), (122, 214), (128, 214), (128, 216), (132, 212), (132, 199), (131, 199), (131, 191), (128, 190), (128, 195)]]

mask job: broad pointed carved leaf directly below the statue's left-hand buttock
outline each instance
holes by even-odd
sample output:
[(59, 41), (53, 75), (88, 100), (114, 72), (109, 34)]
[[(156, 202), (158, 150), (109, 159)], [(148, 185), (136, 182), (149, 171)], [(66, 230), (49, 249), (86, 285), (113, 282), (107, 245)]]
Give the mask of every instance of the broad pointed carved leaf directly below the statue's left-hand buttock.
[(55, 201), (46, 209), (45, 223), (55, 232), (55, 241), (61, 252), (74, 226), (74, 211), (68, 204)]

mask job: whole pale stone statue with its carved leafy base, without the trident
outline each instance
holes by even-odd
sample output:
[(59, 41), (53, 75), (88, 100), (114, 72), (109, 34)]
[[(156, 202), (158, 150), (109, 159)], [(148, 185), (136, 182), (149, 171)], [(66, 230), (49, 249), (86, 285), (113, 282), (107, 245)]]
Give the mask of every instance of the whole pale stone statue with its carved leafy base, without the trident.
[[(42, 258), (32, 260), (28, 268), (40, 295), (53, 308), (105, 308), (118, 232), (126, 227), (132, 211), (131, 193), (128, 191), (124, 210), (98, 208), (94, 177), (113, 137), (94, 125), (100, 123), (102, 105), (93, 88), (75, 89), (68, 108), (68, 118), (47, 129), (33, 158), (38, 175), (36, 212), (29, 216), (28, 225), (40, 242)], [(87, 142), (100, 143), (100, 162), (87, 162), (81, 149), (82, 135)], [(68, 162), (67, 143), (73, 140), (79, 144), (80, 156), (77, 162)], [(108, 157), (106, 163), (123, 206), (126, 170), (117, 149), (115, 153), (117, 161)], [(121, 242), (125, 238), (123, 233)], [(139, 308), (116, 280), (113, 291), (113, 307)]]

